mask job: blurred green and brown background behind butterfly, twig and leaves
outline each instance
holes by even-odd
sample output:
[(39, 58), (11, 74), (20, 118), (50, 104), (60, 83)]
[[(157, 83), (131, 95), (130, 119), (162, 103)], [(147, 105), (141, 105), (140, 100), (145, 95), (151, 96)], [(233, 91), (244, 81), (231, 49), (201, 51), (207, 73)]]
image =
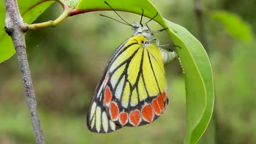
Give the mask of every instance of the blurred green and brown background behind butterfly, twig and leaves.
[[(198, 38), (200, 27), (193, 1), (152, 0), (152, 3), (166, 19), (187, 28)], [(229, 11), (256, 26), (255, 0), (207, 0), (201, 4), (208, 10)], [(61, 11), (61, 6), (55, 3), (36, 22), (54, 20)], [(130, 23), (140, 19), (139, 15), (118, 13)], [(183, 143), (185, 87), (178, 61), (165, 67), (170, 105), (158, 121), (110, 134), (94, 134), (87, 129), (86, 114), (104, 65), (119, 44), (132, 35), (131, 27), (99, 14), (118, 19), (113, 11), (85, 13), (68, 17), (55, 28), (26, 34), (45, 143)], [(255, 39), (248, 44), (232, 37), (210, 15), (203, 15), (203, 21), (216, 104), (210, 127), (199, 143), (256, 143)], [(149, 25), (161, 29), (156, 22)], [(255, 29), (252, 31), (255, 33)], [(155, 37), (160, 44), (172, 44), (166, 32)], [(34, 143), (16, 55), (0, 65), (0, 81), (0, 143)]]

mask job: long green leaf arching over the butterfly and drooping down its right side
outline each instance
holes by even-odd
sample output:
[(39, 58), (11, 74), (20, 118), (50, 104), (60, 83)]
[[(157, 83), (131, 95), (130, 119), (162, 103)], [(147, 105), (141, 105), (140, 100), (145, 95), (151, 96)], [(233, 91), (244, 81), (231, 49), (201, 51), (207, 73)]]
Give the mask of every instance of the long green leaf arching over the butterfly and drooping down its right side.
[[(141, 1), (107, 1), (115, 10), (128, 11), (141, 15), (143, 8), (144, 16), (149, 18), (159, 11), (146, 0)], [(103, 1), (82, 0), (77, 9), (83, 11), (111, 10)], [(213, 103), (213, 79), (212, 68), (205, 49), (201, 43), (191, 35), (187, 29), (165, 20), (161, 14), (154, 19), (162, 27), (167, 29), (177, 49), (178, 55), (185, 71), (185, 87), (187, 98), (187, 131), (184, 143), (196, 143), (210, 122)]]

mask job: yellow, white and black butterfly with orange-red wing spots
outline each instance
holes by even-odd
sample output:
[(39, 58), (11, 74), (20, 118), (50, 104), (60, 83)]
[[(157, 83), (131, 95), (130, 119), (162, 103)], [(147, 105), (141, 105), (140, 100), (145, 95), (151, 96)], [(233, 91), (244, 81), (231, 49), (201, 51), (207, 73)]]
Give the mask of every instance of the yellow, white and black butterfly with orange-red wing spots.
[[(149, 21), (146, 27), (141, 21), (128, 23), (133, 35), (118, 46), (106, 64), (87, 115), (92, 132), (110, 133), (152, 123), (168, 105), (165, 58), (153, 35), (165, 29), (150, 31)], [(171, 55), (177, 57), (175, 53)]]

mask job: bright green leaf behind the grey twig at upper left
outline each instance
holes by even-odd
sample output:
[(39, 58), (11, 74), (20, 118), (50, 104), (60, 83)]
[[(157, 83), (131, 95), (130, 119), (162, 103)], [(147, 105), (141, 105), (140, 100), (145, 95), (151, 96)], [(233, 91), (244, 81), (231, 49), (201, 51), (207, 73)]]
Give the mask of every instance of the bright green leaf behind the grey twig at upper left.
[[(24, 21), (31, 24), (37, 17), (42, 14), (54, 1), (44, 2), (37, 7), (34, 7), (37, 3), (43, 2), (43, 0), (18, 0), (21, 16)], [(34, 8), (33, 8), (34, 7)], [(5, 7), (4, 4), (0, 5), (0, 63), (6, 61), (14, 55), (15, 49), (13, 42), (7, 33), (4, 31), (4, 19), (5, 19)]]

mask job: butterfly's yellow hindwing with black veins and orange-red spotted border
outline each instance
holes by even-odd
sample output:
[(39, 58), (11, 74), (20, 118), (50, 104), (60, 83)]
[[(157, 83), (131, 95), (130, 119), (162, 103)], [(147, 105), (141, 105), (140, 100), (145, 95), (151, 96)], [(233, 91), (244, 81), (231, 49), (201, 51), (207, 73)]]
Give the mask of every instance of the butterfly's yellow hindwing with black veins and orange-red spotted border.
[(118, 125), (152, 123), (168, 105), (161, 53), (155, 44), (143, 45), (144, 41), (143, 36), (131, 37), (107, 70), (103, 105)]

